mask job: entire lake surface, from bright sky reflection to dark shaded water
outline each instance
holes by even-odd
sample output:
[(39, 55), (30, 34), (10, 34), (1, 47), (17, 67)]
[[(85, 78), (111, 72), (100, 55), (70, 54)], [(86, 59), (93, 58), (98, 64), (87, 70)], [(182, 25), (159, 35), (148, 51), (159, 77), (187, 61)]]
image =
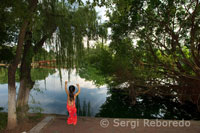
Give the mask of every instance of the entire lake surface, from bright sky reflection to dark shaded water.
[[(0, 68), (0, 107), (4, 108), (3, 111), (7, 111), (8, 108), (7, 71), (6, 68)], [(83, 75), (89, 76), (88, 73)], [(137, 96), (136, 104), (132, 105), (126, 89), (111, 88), (107, 85), (97, 87), (92, 81), (81, 78), (75, 70), (68, 74), (66, 69), (59, 71), (34, 68), (31, 70), (31, 76), (35, 85), (30, 92), (29, 112), (67, 115), (64, 83), (70, 78), (68, 86), (79, 83), (81, 87), (81, 93), (76, 98), (78, 116), (200, 120), (200, 113), (191, 102), (181, 104), (177, 97), (144, 94)], [(16, 74), (16, 86), (18, 91), (19, 70)]]

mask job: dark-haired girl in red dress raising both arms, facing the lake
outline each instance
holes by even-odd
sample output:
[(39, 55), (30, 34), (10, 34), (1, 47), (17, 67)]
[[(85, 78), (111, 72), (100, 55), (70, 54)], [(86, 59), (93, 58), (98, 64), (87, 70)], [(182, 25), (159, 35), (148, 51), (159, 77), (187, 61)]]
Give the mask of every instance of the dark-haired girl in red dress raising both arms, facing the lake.
[(67, 90), (67, 81), (65, 81), (65, 91), (67, 93), (67, 110), (69, 112), (69, 117), (67, 119), (67, 124), (74, 124), (76, 125), (77, 123), (77, 114), (76, 114), (76, 96), (80, 93), (80, 86), (77, 84), (78, 87), (78, 92), (74, 94), (75, 92), (75, 86), (70, 85), (69, 86), (69, 92)]

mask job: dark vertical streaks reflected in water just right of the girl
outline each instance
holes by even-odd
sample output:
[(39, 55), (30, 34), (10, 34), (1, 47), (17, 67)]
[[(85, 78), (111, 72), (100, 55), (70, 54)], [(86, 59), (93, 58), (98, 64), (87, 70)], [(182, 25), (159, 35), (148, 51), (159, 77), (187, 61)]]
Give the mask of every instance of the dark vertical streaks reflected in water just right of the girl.
[(82, 107), (81, 107), (81, 105), (80, 105), (80, 99), (77, 96), (77, 99), (76, 99), (76, 108), (77, 108), (77, 115), (78, 116), (91, 116), (90, 101), (88, 101), (88, 103), (86, 103), (86, 100), (84, 99)]

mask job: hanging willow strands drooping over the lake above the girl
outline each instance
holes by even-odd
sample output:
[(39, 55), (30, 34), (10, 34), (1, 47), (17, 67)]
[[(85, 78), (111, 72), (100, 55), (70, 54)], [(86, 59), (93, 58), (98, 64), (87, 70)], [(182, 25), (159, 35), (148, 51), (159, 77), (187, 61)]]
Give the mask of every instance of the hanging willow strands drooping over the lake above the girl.
[[(83, 38), (97, 38), (98, 17), (94, 8), (88, 6), (62, 9), (65, 17), (57, 20), (53, 46), (58, 64), (65, 64), (68, 69), (80, 66), (84, 42)], [(51, 45), (51, 44), (50, 44)]]

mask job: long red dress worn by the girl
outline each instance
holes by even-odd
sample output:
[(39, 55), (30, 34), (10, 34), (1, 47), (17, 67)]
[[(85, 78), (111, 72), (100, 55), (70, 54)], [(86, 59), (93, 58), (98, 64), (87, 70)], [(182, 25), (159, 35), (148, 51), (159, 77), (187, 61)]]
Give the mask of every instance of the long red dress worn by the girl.
[(69, 117), (67, 119), (67, 124), (74, 124), (76, 125), (77, 123), (77, 114), (76, 114), (76, 104), (75, 104), (75, 100), (73, 102), (73, 105), (68, 105), (67, 102), (67, 110), (69, 112)]

